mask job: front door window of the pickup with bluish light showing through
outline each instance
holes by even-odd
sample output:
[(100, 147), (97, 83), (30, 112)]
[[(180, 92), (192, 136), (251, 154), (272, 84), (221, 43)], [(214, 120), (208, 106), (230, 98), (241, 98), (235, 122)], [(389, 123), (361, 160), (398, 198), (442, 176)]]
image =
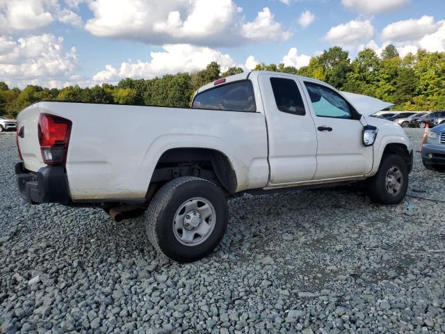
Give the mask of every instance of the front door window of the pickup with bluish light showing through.
[(316, 116), (352, 118), (352, 111), (346, 100), (337, 92), (325, 86), (305, 82)]

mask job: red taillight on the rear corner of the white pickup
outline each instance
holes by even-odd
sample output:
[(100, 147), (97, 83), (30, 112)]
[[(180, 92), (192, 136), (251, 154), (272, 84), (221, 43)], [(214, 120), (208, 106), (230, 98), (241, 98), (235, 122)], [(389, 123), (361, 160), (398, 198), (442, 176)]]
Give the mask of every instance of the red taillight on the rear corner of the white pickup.
[(63, 165), (67, 159), (72, 122), (66, 118), (41, 113), (38, 136), (43, 162), (47, 165)]

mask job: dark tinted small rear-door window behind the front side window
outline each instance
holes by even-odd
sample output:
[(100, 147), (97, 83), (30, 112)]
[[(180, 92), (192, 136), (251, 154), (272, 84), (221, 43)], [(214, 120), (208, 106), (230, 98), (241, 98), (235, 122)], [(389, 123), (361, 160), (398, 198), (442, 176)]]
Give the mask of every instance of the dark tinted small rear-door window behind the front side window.
[(305, 115), (305, 104), (298, 90), (298, 86), (292, 79), (270, 78), (273, 95), (277, 108), (284, 113)]

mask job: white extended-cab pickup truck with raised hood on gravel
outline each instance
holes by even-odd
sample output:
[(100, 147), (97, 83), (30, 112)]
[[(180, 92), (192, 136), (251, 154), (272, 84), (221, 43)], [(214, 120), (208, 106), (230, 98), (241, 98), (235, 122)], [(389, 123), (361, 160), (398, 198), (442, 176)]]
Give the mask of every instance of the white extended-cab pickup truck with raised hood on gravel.
[(371, 200), (401, 202), (410, 143), (369, 117), (389, 106), (275, 72), (219, 79), (191, 108), (38, 102), (17, 117), (17, 183), (31, 204), (93, 205), (116, 220), (147, 210), (152, 244), (192, 262), (218, 245), (239, 193), (366, 180)]

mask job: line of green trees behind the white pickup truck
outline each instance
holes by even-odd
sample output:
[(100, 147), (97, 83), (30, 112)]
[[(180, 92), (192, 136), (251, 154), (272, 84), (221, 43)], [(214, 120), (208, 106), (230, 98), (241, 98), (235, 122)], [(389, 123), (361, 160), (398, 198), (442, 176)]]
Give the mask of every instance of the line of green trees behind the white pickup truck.
[[(392, 102), (396, 110), (445, 110), (445, 52), (419, 50), (401, 57), (396, 47), (388, 45), (380, 56), (372, 49), (364, 49), (351, 61), (348, 51), (331, 47), (312, 57), (309, 65), (299, 70), (283, 63), (262, 63), (254, 70), (312, 77), (339, 90)], [(212, 62), (204, 70), (193, 73), (166, 74), (154, 79), (127, 78), (117, 85), (91, 88), (29, 85), (21, 90), (9, 88), (0, 81), (0, 115), (15, 118), (19, 111), (40, 100), (186, 107), (200, 86), (241, 72), (241, 67), (221, 72), (220, 65)]]

